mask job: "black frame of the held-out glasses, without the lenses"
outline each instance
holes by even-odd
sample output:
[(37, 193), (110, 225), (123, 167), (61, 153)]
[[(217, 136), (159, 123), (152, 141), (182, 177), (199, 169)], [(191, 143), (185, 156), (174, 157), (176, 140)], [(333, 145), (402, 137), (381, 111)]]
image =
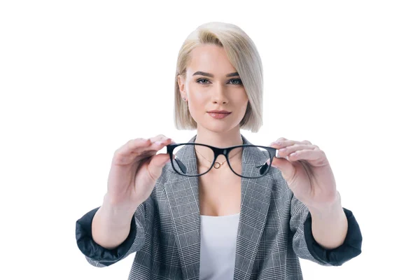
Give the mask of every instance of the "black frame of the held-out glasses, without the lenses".
[[(272, 147), (267, 147), (267, 146), (257, 146), (257, 145), (250, 145), (250, 144), (244, 144), (244, 145), (238, 145), (238, 146), (230, 146), (227, 148), (216, 148), (214, 146), (209, 146), (207, 144), (199, 144), (199, 143), (192, 143), (192, 142), (188, 142), (188, 143), (180, 143), (180, 144), (169, 144), (167, 145), (167, 153), (169, 153), (169, 158), (171, 158), (171, 165), (172, 168), (175, 170), (176, 173), (182, 175), (182, 176), (187, 176), (187, 177), (198, 177), (198, 176), (203, 176), (204, 174), (207, 174), (207, 172), (204, 172), (203, 174), (197, 174), (197, 175), (187, 175), (187, 174), (182, 174), (180, 172), (178, 172), (178, 170), (176, 170), (176, 168), (174, 167), (174, 160), (176, 161), (176, 163), (179, 165), (179, 167), (181, 169), (186, 169), (185, 165), (183, 165), (183, 163), (181, 162), (181, 160), (177, 160), (176, 158), (174, 158), (174, 149), (178, 146), (183, 146), (183, 145), (195, 145), (195, 146), (204, 146), (207, 148), (211, 148), (211, 150), (214, 153), (214, 160), (213, 162), (211, 162), (211, 166), (209, 168), (209, 170), (207, 170), (207, 172), (210, 172), (211, 167), (214, 166), (214, 162), (216, 162), (216, 158), (218, 157), (218, 155), (224, 155), (226, 158), (226, 161), (228, 162), (228, 165), (230, 167), (230, 170), (232, 170), (232, 172), (234, 174), (236, 174), (239, 177), (242, 178), (247, 178), (247, 179), (257, 179), (260, 178), (262, 176), (265, 176), (265, 174), (267, 174), (269, 167), (271, 167), (272, 165), (272, 161), (273, 158), (279, 158), (279, 150), (277, 150), (276, 148), (272, 148)], [(229, 161), (229, 153), (230, 151), (232, 151), (235, 148), (240, 148), (240, 147), (257, 147), (257, 148), (265, 148), (268, 153), (269, 153), (269, 165), (267, 165), (267, 163), (265, 163), (265, 165), (261, 165), (261, 170), (262, 170), (262, 174), (258, 177), (248, 177), (248, 176), (242, 176), (241, 174), (237, 174), (235, 172), (235, 170), (233, 170), (232, 166), (230, 165), (230, 161)]]

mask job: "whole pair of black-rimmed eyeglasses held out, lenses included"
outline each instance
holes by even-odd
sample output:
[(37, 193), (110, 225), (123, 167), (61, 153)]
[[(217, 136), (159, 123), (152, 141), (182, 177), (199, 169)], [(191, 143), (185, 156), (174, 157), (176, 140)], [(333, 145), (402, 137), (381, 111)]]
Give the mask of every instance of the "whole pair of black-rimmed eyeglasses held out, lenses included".
[[(182, 176), (202, 176), (211, 170), (221, 168), (225, 162), (237, 176), (256, 179), (265, 176), (272, 165), (274, 156), (278, 156), (276, 148), (255, 145), (239, 145), (228, 148), (216, 148), (194, 142), (169, 144), (167, 153), (171, 159), (172, 168)], [(197, 165), (196, 158), (206, 164)], [(226, 160), (218, 162), (218, 155), (224, 155)], [(240, 157), (242, 155), (242, 158)], [(241, 159), (241, 160), (238, 160)], [(198, 170), (197, 170), (198, 167)], [(244, 174), (250, 176), (244, 176)]]

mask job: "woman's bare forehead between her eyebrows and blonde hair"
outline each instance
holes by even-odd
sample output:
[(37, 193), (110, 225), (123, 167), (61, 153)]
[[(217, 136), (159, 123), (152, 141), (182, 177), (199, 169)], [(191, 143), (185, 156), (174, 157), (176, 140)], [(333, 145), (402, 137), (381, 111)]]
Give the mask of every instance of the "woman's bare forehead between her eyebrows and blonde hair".
[(187, 75), (195, 71), (213, 73), (216, 76), (225, 76), (235, 72), (223, 47), (213, 44), (199, 45), (190, 53), (190, 63), (187, 66)]

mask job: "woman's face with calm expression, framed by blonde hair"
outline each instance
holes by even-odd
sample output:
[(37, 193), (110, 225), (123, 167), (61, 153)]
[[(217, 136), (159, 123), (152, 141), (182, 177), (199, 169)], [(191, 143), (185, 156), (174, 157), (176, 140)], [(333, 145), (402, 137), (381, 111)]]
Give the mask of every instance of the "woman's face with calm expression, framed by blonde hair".
[[(239, 129), (248, 97), (236, 69), (230, 64), (225, 49), (218, 45), (200, 45), (192, 52), (186, 77), (179, 76), (182, 97), (197, 122), (197, 130), (213, 132)], [(211, 111), (230, 113), (211, 113)]]

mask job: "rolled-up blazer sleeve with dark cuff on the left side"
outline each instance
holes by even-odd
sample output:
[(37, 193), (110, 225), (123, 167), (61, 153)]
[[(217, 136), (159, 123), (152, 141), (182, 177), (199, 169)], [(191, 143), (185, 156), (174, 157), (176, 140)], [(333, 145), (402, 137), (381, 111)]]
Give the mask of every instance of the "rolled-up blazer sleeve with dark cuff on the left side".
[(99, 207), (87, 212), (76, 221), (77, 246), (85, 255), (87, 262), (95, 267), (107, 267), (141, 250), (146, 239), (145, 232), (153, 216), (151, 197), (140, 204), (134, 212), (127, 239), (111, 250), (100, 246), (92, 238), (92, 220), (98, 209)]

